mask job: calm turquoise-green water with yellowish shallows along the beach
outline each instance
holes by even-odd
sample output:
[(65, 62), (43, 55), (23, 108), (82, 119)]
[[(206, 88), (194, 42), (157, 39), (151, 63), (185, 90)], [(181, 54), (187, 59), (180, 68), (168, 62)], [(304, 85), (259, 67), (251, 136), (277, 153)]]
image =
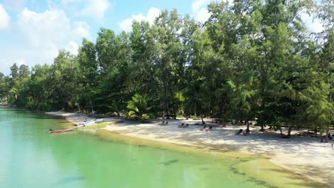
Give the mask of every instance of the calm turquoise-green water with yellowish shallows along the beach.
[(0, 107), (0, 187), (323, 187), (253, 155), (50, 127), (69, 123)]

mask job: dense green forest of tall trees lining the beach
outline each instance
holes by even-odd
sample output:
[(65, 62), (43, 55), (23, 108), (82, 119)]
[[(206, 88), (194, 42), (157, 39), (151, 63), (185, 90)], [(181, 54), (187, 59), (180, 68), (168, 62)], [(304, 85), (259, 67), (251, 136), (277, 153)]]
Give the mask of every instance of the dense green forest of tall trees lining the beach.
[[(257, 120), (261, 130), (334, 125), (333, 1), (211, 3), (198, 23), (174, 9), (129, 33), (98, 31), (78, 55), (14, 64), (0, 73), (2, 103), (31, 110), (85, 110), (128, 118)], [(300, 13), (322, 21), (310, 33)], [(56, 37), (56, 36), (52, 36)]]

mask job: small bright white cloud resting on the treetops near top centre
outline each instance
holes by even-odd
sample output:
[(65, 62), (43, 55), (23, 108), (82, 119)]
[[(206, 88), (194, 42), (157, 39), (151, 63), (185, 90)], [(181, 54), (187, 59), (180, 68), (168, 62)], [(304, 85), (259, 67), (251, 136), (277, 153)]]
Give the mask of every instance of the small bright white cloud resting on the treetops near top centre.
[(148, 23), (153, 24), (156, 17), (158, 17), (160, 13), (161, 11), (159, 9), (151, 7), (150, 9), (148, 9), (146, 16), (143, 16), (143, 14), (132, 15), (131, 18), (121, 21), (121, 23), (118, 23), (118, 25), (121, 28), (121, 30), (128, 32), (131, 31), (132, 29), (133, 21), (138, 21), (138, 22), (147, 21)]

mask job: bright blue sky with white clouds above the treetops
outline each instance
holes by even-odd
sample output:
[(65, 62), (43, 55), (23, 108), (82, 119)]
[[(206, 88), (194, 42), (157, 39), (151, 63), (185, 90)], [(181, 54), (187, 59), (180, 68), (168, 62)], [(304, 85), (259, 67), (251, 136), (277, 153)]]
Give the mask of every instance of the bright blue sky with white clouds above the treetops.
[[(165, 9), (206, 21), (211, 1), (0, 0), (0, 72), (9, 75), (14, 63), (51, 64), (59, 50), (76, 55), (82, 38), (95, 41), (100, 28), (131, 31), (133, 20), (153, 23)], [(311, 16), (302, 18), (310, 31), (323, 29)]]

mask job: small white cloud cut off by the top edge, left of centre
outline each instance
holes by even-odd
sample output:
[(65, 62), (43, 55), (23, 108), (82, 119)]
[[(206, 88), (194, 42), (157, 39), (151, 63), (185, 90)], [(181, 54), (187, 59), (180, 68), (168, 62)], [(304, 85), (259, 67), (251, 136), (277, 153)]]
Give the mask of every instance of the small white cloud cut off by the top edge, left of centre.
[[(73, 0), (71, 0), (73, 1)], [(85, 8), (81, 11), (83, 16), (92, 16), (96, 19), (102, 19), (104, 13), (108, 11), (111, 4), (108, 0), (87, 0)]]

